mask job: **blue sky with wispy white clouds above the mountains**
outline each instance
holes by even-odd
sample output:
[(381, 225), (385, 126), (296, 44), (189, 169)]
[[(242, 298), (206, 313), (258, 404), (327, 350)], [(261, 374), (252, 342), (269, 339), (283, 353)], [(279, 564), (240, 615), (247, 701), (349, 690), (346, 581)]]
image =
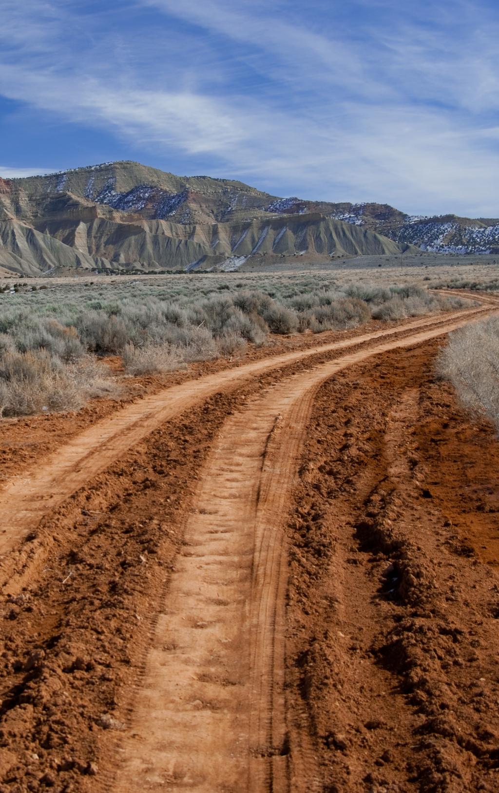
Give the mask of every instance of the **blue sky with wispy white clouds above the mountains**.
[(499, 6), (0, 0), (0, 175), (134, 159), (499, 216)]

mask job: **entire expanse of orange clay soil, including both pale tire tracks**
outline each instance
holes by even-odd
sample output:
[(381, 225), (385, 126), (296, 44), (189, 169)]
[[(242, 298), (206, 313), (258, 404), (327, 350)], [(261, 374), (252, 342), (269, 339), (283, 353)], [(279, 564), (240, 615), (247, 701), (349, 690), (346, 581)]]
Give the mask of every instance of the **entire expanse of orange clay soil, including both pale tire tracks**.
[(2, 793), (497, 789), (493, 571), (436, 517), (466, 466), (414, 439), (470, 427), (432, 381), (459, 321), (149, 405), (41, 508), (30, 473), (24, 540), (2, 504)]

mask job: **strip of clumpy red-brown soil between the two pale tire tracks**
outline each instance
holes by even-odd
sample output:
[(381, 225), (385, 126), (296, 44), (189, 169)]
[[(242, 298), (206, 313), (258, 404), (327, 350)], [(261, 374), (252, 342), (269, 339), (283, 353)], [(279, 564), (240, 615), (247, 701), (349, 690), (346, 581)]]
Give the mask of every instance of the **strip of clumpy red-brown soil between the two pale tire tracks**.
[[(403, 334), (404, 327), (397, 331)], [(355, 350), (355, 339), (349, 341)], [(321, 358), (316, 355), (313, 361)], [(374, 363), (374, 370), (377, 366)], [(290, 368), (288, 374), (299, 368)], [(171, 541), (178, 553), (185, 527), (182, 508), (191, 508), (192, 484), (198, 481), (199, 465), (213, 447), (215, 427), (222, 426), (228, 412), (238, 409), (236, 405), (244, 404), (242, 399), (248, 400), (259, 389), (261, 393), (278, 377), (281, 370), (248, 379), (240, 388), (217, 393), (159, 427), (125, 458), (120, 456), (103, 476), (85, 481), (71, 499), (43, 519), (34, 542), (21, 543), (19, 551), (10, 554), (10, 564), (17, 561), (18, 569), (6, 592), (20, 595), (14, 599), (8, 595), (6, 600), (5, 615), (16, 621), (5, 624), (5, 671), (12, 671), (3, 688), (8, 691), (12, 685), (14, 697), (8, 707), (14, 707), (2, 718), (2, 726), (10, 730), (7, 742), (13, 753), (6, 754), (14, 765), (17, 757), (13, 776), (21, 784), (29, 780), (29, 786), (38, 789), (36, 780), (44, 772), (53, 779), (56, 771), (61, 790), (68, 784), (68, 789), (96, 791), (105, 764), (102, 760), (109, 757), (108, 745), (111, 748), (116, 737), (102, 729), (102, 714), (110, 711), (118, 722), (130, 723), (129, 692), (142, 677), (162, 602), (160, 593), (169, 584), (175, 559)], [(344, 375), (341, 380), (344, 377), (345, 383), (352, 379)], [(351, 388), (355, 392), (355, 382)], [(277, 438), (278, 429), (271, 437)], [(271, 448), (269, 442), (269, 459)], [(33, 556), (35, 564), (30, 563)], [(44, 563), (42, 557), (49, 561)], [(24, 564), (26, 558), (28, 565), (21, 568), (19, 563)], [(44, 564), (48, 567), (42, 570)], [(22, 591), (17, 574), (21, 569)], [(67, 584), (61, 588), (62, 580)], [(15, 614), (10, 614), (11, 609)], [(36, 657), (44, 660), (36, 662), (32, 672), (25, 672), (24, 665), (29, 668)], [(82, 671), (87, 662), (94, 668)], [(33, 710), (25, 703), (33, 703)], [(305, 710), (295, 733), (308, 734), (306, 717)], [(56, 749), (59, 745), (67, 748)], [(313, 750), (305, 745), (300, 757), (296, 740), (293, 747), (287, 756), (291, 767), (305, 768), (313, 760)], [(40, 755), (38, 773), (30, 759), (33, 751)], [(115, 757), (116, 753), (112, 763)], [(269, 758), (257, 754), (256, 760), (262, 766), (268, 765)], [(94, 761), (98, 776), (87, 776), (88, 764)], [(44, 783), (40, 785), (44, 789)], [(110, 786), (104, 789), (107, 793)]]

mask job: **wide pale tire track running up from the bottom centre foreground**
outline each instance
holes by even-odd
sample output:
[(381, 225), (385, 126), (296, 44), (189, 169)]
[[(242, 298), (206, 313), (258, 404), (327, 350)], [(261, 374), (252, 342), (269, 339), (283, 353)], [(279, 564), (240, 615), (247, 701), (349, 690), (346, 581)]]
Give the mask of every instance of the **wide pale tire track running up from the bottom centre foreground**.
[(459, 327), (447, 322), (295, 374), (236, 412), (202, 472), (106, 790), (314, 791), (306, 730), (286, 723), (283, 524), (313, 397), (332, 374)]

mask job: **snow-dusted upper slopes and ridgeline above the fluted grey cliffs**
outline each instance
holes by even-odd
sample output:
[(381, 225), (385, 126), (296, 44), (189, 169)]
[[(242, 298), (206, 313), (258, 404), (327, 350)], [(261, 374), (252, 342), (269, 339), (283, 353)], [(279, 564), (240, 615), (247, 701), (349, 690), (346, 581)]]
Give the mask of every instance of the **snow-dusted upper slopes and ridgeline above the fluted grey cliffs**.
[[(139, 215), (145, 220), (171, 220), (186, 225), (250, 222), (269, 215), (319, 213), (426, 251), (485, 253), (493, 252), (499, 245), (499, 220), (496, 219), (409, 216), (388, 204), (279, 198), (243, 182), (208, 176), (179, 177), (130, 161), (2, 182), (12, 193), (17, 218), (25, 221), (39, 211), (37, 203), (48, 196), (71, 193), (82, 200), (120, 213)], [(29, 197), (28, 202), (23, 201), (23, 195)]]

